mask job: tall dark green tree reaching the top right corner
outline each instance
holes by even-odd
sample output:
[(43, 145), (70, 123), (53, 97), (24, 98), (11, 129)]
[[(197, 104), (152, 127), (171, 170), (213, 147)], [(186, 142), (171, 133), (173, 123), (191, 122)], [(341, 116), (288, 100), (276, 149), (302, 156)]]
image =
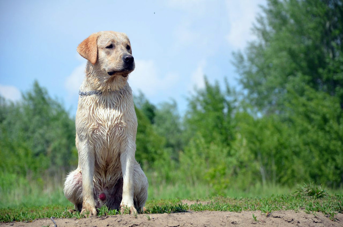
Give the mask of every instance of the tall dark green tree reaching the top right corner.
[(286, 85), (298, 78), (339, 98), (343, 109), (341, 0), (268, 0), (253, 31), (257, 41), (235, 53), (240, 83), (263, 113), (283, 110)]

